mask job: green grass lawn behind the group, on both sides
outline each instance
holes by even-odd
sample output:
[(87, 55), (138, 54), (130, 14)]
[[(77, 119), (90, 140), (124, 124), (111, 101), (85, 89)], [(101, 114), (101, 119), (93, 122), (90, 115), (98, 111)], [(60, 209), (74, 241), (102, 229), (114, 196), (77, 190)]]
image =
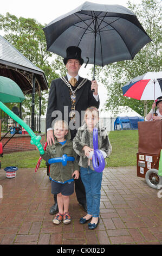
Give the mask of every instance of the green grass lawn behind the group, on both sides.
[[(138, 131), (111, 131), (109, 140), (112, 144), (112, 154), (107, 160), (107, 166), (136, 166), (136, 154), (138, 152)], [(37, 150), (4, 154), (0, 158), (2, 169), (7, 166), (18, 168), (35, 168), (40, 157)], [(40, 168), (46, 168), (42, 160)]]

